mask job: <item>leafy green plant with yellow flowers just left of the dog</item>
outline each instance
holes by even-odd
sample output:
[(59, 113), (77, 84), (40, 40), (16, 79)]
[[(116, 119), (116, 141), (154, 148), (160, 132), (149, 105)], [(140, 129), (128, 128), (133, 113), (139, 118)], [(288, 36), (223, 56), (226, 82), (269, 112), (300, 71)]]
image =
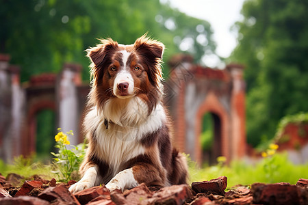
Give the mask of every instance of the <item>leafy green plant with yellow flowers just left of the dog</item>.
[[(53, 171), (57, 174), (59, 180), (77, 180), (79, 178), (78, 169), (79, 165), (84, 159), (86, 153), (86, 143), (80, 143), (77, 146), (70, 145), (68, 135), (73, 136), (73, 131), (66, 132), (64, 134), (61, 128), (58, 128), (59, 133), (55, 135), (55, 148), (58, 148), (58, 153), (51, 152), (55, 158), (53, 158), (53, 164), (56, 170)], [(73, 147), (71, 150), (67, 149), (66, 146)]]

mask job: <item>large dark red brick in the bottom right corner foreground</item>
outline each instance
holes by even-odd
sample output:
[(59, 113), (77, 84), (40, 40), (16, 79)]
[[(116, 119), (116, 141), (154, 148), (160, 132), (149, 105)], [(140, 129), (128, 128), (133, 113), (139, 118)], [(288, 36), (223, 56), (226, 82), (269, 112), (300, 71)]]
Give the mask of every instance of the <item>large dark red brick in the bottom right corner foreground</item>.
[(251, 185), (255, 204), (299, 204), (298, 187), (288, 183)]

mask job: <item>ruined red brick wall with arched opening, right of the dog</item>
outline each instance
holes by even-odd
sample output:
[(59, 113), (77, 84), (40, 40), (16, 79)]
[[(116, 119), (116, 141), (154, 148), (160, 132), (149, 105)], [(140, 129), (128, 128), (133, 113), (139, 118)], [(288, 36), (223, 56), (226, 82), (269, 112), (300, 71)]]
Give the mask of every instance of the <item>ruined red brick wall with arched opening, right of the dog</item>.
[(171, 60), (170, 78), (165, 83), (166, 105), (175, 122), (175, 144), (203, 162), (201, 147), (202, 120), (205, 113), (214, 119), (214, 156), (227, 161), (245, 154), (245, 86), (243, 67), (229, 65), (223, 70), (194, 65), (192, 57)]

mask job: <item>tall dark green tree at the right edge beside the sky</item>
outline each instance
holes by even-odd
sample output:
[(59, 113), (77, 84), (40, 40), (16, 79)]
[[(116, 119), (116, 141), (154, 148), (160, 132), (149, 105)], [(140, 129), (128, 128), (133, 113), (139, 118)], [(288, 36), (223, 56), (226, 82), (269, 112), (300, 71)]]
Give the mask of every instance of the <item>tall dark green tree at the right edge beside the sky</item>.
[(274, 136), (285, 115), (308, 111), (308, 2), (247, 0), (230, 60), (246, 65), (247, 135)]

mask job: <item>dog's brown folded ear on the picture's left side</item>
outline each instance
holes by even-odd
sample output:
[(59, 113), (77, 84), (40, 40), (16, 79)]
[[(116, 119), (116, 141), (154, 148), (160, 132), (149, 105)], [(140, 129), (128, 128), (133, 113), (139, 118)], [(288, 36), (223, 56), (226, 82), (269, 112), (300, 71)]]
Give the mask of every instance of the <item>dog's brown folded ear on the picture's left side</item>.
[(88, 52), (87, 56), (91, 59), (94, 66), (99, 66), (112, 49), (116, 50), (118, 48), (118, 42), (111, 38), (101, 39), (100, 41), (101, 44), (86, 50)]

